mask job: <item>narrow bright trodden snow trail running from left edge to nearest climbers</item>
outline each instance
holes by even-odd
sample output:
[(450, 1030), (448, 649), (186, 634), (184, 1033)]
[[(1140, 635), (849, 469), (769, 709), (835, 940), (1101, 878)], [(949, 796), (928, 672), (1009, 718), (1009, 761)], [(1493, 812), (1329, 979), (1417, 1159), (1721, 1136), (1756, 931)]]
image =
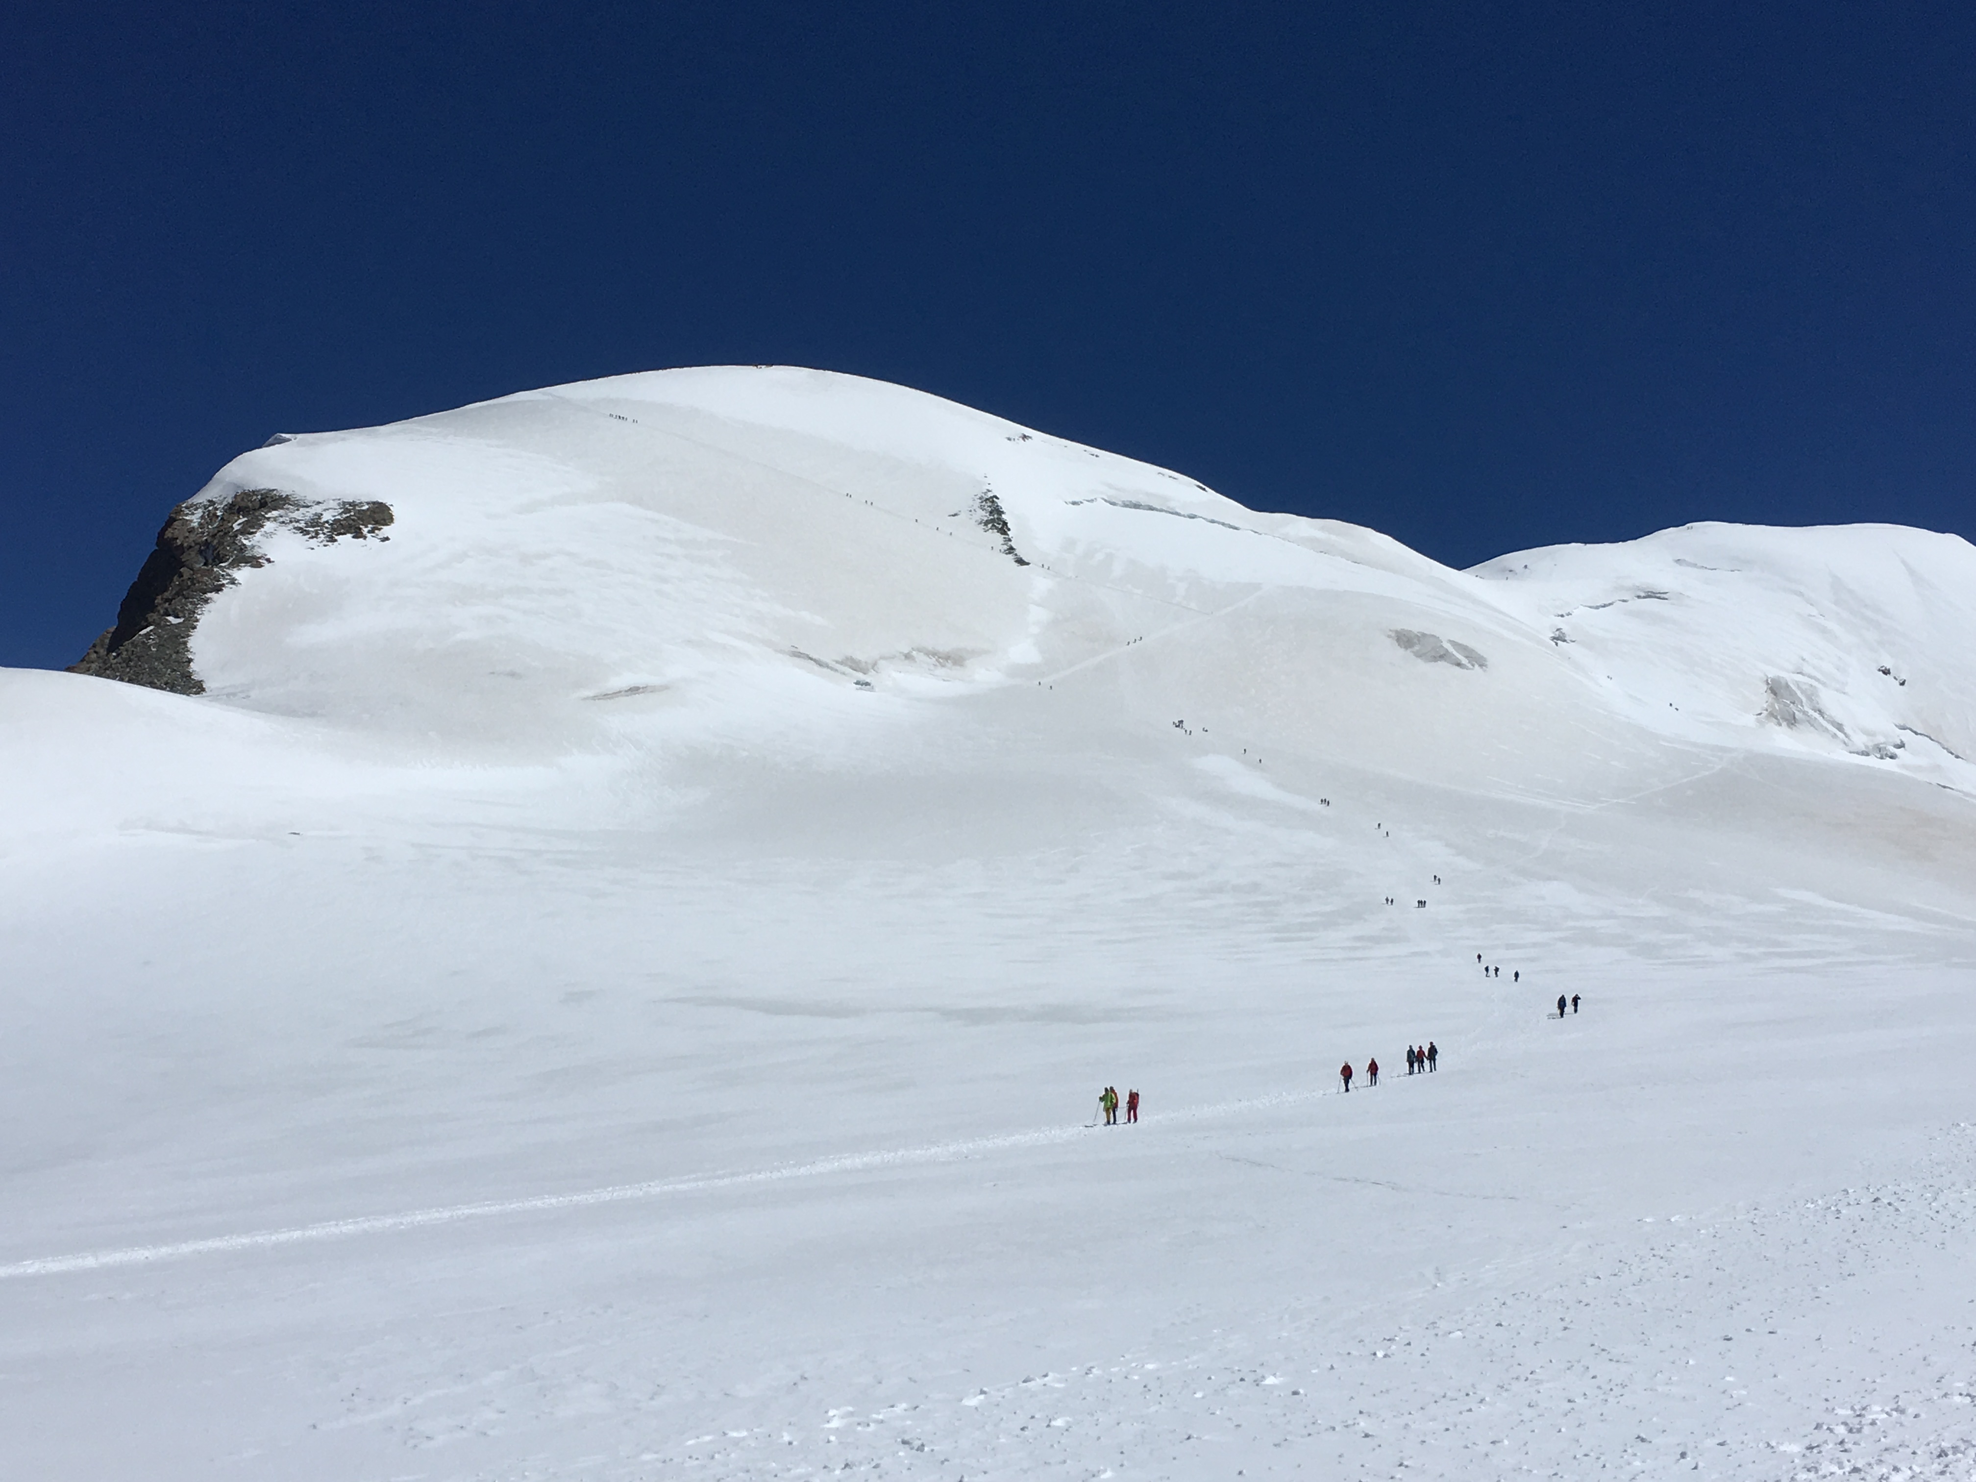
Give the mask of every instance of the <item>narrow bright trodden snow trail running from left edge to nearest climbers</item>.
[[(1194, 1107), (1178, 1112), (1146, 1114), (1138, 1126), (1160, 1122), (1197, 1122), (1217, 1116), (1237, 1116), (1243, 1112), (1288, 1107), (1300, 1101), (1314, 1101), (1330, 1091), (1282, 1091), (1249, 1101), (1225, 1101), (1213, 1107)], [(1124, 1122), (1120, 1122), (1122, 1126)], [(739, 1188), (747, 1184), (777, 1184), (790, 1178), (822, 1178), (826, 1174), (856, 1174), (867, 1168), (907, 1168), (913, 1164), (952, 1162), (956, 1158), (978, 1158), (982, 1154), (1006, 1152), (1012, 1148), (1043, 1148), (1055, 1142), (1069, 1142), (1097, 1126), (1077, 1122), (1071, 1126), (1045, 1126), (1033, 1132), (1008, 1132), (992, 1138), (966, 1138), (958, 1142), (933, 1142), (923, 1148), (893, 1148), (887, 1152), (852, 1152), (834, 1158), (816, 1158), (806, 1164), (786, 1164), (781, 1168), (759, 1168), (745, 1174), (707, 1174), (701, 1178), (648, 1180), (642, 1184), (611, 1184), (599, 1190), (577, 1194), (537, 1194), (526, 1199), (484, 1199), (480, 1203), (454, 1203), (437, 1209), (409, 1209), (395, 1215), (358, 1215), (354, 1219), (322, 1219), (312, 1225), (292, 1225), (288, 1229), (257, 1229), (239, 1235), (207, 1235), (196, 1241), (170, 1241), (164, 1245), (130, 1245), (115, 1251), (83, 1251), (77, 1255), (51, 1255), (34, 1261), (16, 1261), (0, 1267), (0, 1280), (22, 1276), (61, 1276), (75, 1271), (105, 1271), (111, 1267), (140, 1267), (158, 1261), (184, 1261), (200, 1255), (227, 1255), (233, 1251), (263, 1251), (277, 1245), (300, 1245), (306, 1241), (336, 1241), (356, 1235), (387, 1235), (427, 1225), (454, 1225), (464, 1219), (492, 1219), (496, 1215), (528, 1215), (553, 1209), (585, 1209), (601, 1203), (626, 1203), (632, 1199), (660, 1199), (668, 1194), (700, 1194), (705, 1190)]]

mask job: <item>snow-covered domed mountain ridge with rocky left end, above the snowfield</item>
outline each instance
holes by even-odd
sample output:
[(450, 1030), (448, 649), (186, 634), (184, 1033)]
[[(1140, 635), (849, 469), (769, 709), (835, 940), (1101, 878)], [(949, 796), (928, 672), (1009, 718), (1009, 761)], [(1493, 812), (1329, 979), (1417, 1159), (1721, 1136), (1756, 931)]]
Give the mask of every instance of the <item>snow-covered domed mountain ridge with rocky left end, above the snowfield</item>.
[(1111, 723), (1435, 781), (1678, 741), (1966, 786), (1972, 638), (1954, 535), (1689, 526), (1450, 571), (903, 387), (705, 368), (277, 437), (172, 514), (75, 668), (520, 747), (737, 688), (905, 715), (1075, 674)]

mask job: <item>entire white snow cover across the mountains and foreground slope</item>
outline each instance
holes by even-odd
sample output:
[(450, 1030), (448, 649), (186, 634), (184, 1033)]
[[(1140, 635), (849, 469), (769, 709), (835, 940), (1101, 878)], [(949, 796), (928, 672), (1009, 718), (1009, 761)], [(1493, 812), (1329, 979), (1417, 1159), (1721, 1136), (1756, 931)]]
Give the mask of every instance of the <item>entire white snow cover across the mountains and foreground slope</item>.
[(245, 488), (391, 539), (0, 672), (0, 1476), (1976, 1474), (1960, 539), (794, 370)]

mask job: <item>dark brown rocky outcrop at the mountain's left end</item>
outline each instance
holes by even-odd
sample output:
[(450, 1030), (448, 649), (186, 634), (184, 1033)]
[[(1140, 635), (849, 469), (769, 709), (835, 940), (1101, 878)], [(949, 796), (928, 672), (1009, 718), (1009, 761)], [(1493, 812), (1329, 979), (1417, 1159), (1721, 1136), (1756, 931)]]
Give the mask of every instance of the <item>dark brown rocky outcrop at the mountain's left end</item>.
[(192, 672), (192, 632), (233, 573), (267, 565), (255, 543), (269, 526), (328, 545), (336, 539), (389, 539), (391, 506), (381, 500), (310, 504), (279, 488), (247, 488), (227, 500), (192, 500), (172, 510), (158, 545), (136, 573), (107, 628), (71, 674), (142, 684), (180, 696), (206, 692)]

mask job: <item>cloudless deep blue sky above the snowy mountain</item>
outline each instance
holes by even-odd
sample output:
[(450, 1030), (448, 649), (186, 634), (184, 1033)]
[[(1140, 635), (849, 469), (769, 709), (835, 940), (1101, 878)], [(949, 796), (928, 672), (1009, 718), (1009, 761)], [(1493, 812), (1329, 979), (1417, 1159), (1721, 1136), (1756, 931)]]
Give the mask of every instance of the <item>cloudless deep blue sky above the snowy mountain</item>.
[(0, 348), (0, 664), (277, 429), (717, 362), (1454, 565), (1976, 535), (1976, 8), (16, 6)]

